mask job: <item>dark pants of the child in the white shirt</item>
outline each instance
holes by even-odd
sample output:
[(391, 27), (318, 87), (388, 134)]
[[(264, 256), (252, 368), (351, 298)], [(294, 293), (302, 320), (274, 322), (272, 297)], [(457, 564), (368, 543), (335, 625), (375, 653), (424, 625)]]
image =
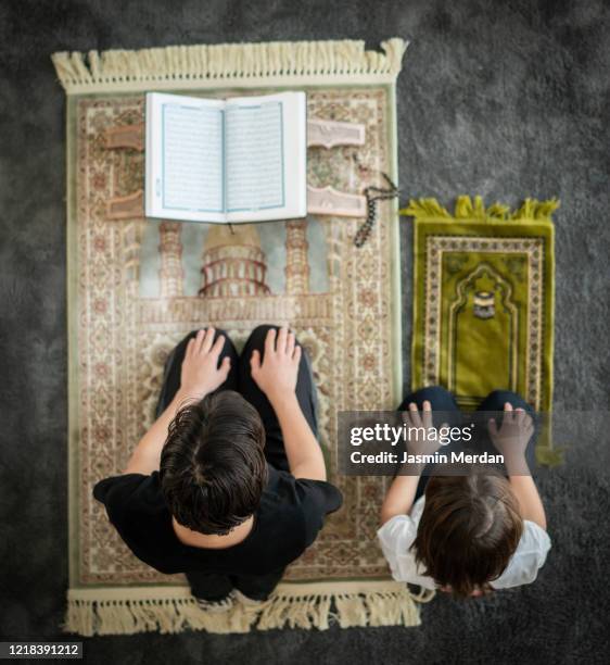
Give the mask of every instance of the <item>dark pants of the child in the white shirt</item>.
[[(459, 427), (462, 425), (465, 419), (468, 419), (467, 414), (462, 414), (457, 405), (456, 399), (452, 392), (446, 390), (445, 388), (441, 388), (441, 386), (431, 386), (428, 388), (421, 388), (420, 390), (416, 390), (416, 392), (411, 392), (408, 394), (398, 406), (398, 411), (407, 411), (409, 404), (414, 402), (417, 404), (419, 410), (423, 409), (423, 402), (429, 401), (432, 411), (436, 412), (436, 415), (433, 413), (433, 422), (435, 427), (440, 427), (443, 424), (447, 424), (449, 427)], [(494, 390), (490, 392), (490, 394), (479, 404), (476, 409), (478, 412), (481, 411), (504, 411), (504, 405), (506, 402), (509, 402), (513, 409), (524, 409), (534, 421), (534, 434), (532, 438), (528, 442), (528, 448), (525, 449), (525, 457), (528, 460), (528, 465), (530, 468), (534, 466), (534, 449), (536, 439), (538, 436), (538, 422), (536, 417), (536, 413), (534, 410), (525, 402), (525, 400), (517, 394), (517, 392), (511, 392), (510, 390)], [(442, 415), (440, 415), (442, 414)], [(443, 421), (443, 422), (441, 422)], [(482, 423), (480, 424), (482, 425)], [(498, 422), (498, 427), (501, 425)], [(454, 448), (454, 443), (449, 443), (443, 450), (443, 452), (450, 454), (452, 450), (456, 450)], [(494, 447), (492, 439), (490, 438), (488, 431), (484, 427), (479, 427), (479, 434), (473, 442), (473, 448), (478, 453), (488, 452), (490, 454), (496, 454), (497, 450)], [(424, 473), (419, 479), (419, 485), (417, 486), (417, 492), (415, 497), (415, 501), (417, 501), (425, 491), (425, 486), (428, 485), (428, 480), (430, 475)]]

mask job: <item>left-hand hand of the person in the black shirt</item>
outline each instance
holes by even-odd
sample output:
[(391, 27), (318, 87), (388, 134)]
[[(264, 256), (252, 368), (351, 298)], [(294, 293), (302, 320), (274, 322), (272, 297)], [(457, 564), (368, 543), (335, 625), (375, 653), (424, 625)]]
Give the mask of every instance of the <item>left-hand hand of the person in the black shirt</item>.
[(218, 367), (225, 337), (220, 335), (214, 343), (214, 328), (200, 330), (187, 344), (180, 375), (180, 391), (185, 397), (203, 399), (227, 380), (231, 359), (225, 357)]

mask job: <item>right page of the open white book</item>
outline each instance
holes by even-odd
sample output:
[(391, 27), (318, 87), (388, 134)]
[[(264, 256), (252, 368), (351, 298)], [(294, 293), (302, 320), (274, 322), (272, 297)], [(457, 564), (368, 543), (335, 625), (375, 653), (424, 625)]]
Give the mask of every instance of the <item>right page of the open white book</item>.
[(304, 92), (227, 100), (228, 221), (306, 215), (305, 100)]

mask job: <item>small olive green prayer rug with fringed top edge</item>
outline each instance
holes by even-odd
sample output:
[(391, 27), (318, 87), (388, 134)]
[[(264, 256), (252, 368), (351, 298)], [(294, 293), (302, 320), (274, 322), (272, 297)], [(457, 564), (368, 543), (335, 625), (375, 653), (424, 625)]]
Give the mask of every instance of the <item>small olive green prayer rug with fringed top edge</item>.
[[(415, 217), (412, 389), (444, 386), (465, 410), (512, 390), (550, 412), (558, 205), (526, 199), (511, 212), (463, 196), (453, 215), (435, 199), (401, 210)], [(548, 426), (536, 456), (560, 459)]]

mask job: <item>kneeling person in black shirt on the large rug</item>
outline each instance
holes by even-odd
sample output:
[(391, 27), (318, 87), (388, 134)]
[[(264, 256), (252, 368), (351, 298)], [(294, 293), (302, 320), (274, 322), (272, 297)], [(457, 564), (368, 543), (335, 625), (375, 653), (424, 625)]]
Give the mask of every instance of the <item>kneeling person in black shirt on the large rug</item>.
[(202, 607), (265, 600), (342, 503), (315, 401), (287, 328), (259, 326), (241, 359), (225, 332), (191, 332), (167, 361), (156, 422), (93, 495), (136, 556), (186, 573)]

